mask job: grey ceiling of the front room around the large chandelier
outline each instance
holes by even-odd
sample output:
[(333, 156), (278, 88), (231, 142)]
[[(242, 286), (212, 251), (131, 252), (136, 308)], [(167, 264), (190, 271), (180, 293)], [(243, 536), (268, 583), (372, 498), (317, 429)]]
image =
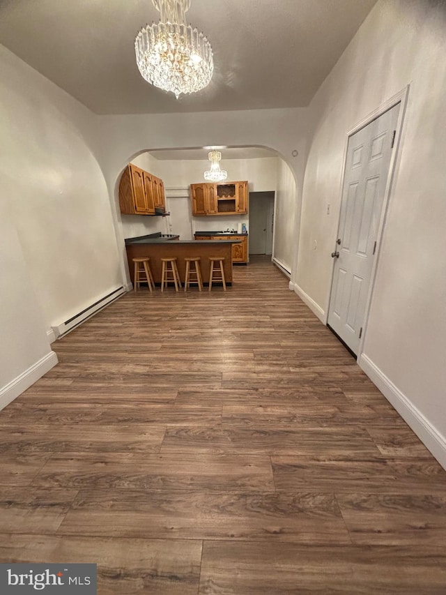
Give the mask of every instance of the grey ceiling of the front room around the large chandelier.
[(0, 43), (97, 114), (304, 107), (376, 0), (191, 0), (214, 53), (207, 89), (180, 96), (139, 75), (151, 0), (0, 0)]

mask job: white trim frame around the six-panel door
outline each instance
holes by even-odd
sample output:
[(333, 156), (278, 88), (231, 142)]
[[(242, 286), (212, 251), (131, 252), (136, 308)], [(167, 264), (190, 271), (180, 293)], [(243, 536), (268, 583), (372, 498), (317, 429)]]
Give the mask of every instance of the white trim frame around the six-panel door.
[[(390, 164), (389, 164), (389, 171), (387, 173), (387, 180), (385, 183), (385, 192), (384, 192), (384, 197), (383, 197), (383, 206), (381, 209), (381, 214), (380, 214), (380, 220), (379, 220), (379, 224), (378, 224), (378, 232), (376, 234), (376, 254), (375, 254), (375, 258), (374, 258), (374, 262), (372, 264), (371, 267), (371, 273), (370, 273), (370, 285), (369, 285), (369, 291), (367, 292), (367, 300), (366, 300), (366, 304), (365, 304), (365, 310), (364, 310), (364, 321), (362, 322), (362, 336), (360, 338), (360, 342), (359, 345), (357, 347), (357, 361), (359, 361), (360, 356), (362, 354), (362, 347), (364, 346), (364, 340), (367, 336), (367, 326), (369, 324), (369, 313), (370, 313), (370, 304), (371, 304), (371, 298), (373, 296), (373, 292), (374, 292), (374, 286), (375, 286), (375, 280), (376, 280), (376, 271), (378, 269), (378, 262), (379, 262), (379, 257), (380, 257), (380, 250), (381, 250), (381, 240), (383, 238), (383, 231), (384, 231), (384, 225), (385, 225), (385, 218), (387, 215), (387, 206), (389, 204), (389, 200), (390, 200), (390, 195), (391, 195), (391, 190), (392, 190), (392, 183), (394, 181), (394, 176), (395, 176), (395, 170), (396, 170), (396, 165), (397, 165), (397, 159), (399, 158), (399, 148), (401, 145), (401, 137), (402, 137), (402, 131), (403, 131), (403, 121), (404, 121), (404, 116), (406, 114), (406, 108), (407, 108), (407, 104), (408, 104), (408, 94), (409, 94), (409, 89), (410, 89), (410, 84), (406, 85), (405, 87), (403, 87), (403, 89), (401, 89), (401, 91), (399, 91), (399, 93), (396, 93), (394, 96), (392, 96), (391, 98), (387, 99), (387, 101), (385, 101), (384, 103), (381, 103), (379, 107), (376, 108), (376, 110), (374, 110), (373, 112), (371, 112), (370, 114), (368, 114), (367, 116), (365, 116), (360, 122), (358, 122), (357, 124), (355, 124), (355, 126), (353, 126), (353, 128), (351, 128), (350, 130), (348, 130), (348, 132), (346, 133), (346, 139), (344, 142), (344, 156), (342, 158), (342, 175), (341, 175), (341, 188), (340, 188), (340, 201), (339, 201), (339, 218), (338, 218), (338, 224), (337, 224), (337, 232), (336, 232), (336, 237), (339, 237), (339, 227), (341, 225), (341, 206), (342, 206), (342, 196), (344, 195), (344, 179), (345, 179), (345, 174), (346, 174), (346, 166), (347, 166), (347, 149), (348, 149), (348, 141), (350, 140), (350, 137), (353, 136), (355, 133), (357, 133), (359, 130), (361, 130), (362, 128), (365, 128), (365, 126), (368, 126), (369, 123), (371, 123), (372, 121), (376, 120), (379, 116), (381, 116), (382, 114), (384, 114), (385, 112), (387, 112), (388, 110), (392, 109), (392, 107), (394, 107), (395, 105), (397, 105), (398, 103), (401, 104), (400, 110), (399, 110), (399, 114), (398, 114), (398, 121), (397, 121), (397, 133), (395, 135), (395, 139), (394, 139), (394, 151), (392, 153), (392, 156), (390, 157)], [(335, 239), (334, 239), (334, 246), (336, 246), (335, 244)], [(332, 271), (331, 271), (331, 275), (330, 275), (330, 294), (329, 294), (329, 298), (328, 298), (328, 305), (327, 308), (325, 310), (325, 317), (324, 317), (324, 324), (325, 326), (328, 326), (328, 314), (330, 311), (330, 301), (332, 299), (332, 285), (333, 285), (333, 277), (334, 277), (334, 259), (333, 259), (333, 263), (332, 263)]]

